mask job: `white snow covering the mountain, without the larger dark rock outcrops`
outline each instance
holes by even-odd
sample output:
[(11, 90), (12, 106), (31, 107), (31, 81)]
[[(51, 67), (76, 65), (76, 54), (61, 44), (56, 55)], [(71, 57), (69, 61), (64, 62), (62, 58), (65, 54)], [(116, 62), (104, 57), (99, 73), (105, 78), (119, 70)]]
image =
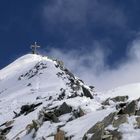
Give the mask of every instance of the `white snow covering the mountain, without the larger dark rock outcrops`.
[[(115, 111), (113, 106), (102, 110), (102, 101), (122, 95), (134, 100), (140, 97), (139, 93), (140, 83), (96, 93), (61, 61), (27, 54), (0, 70), (0, 124), (13, 121), (12, 128), (5, 134), (8, 140), (52, 140), (59, 126), (72, 140), (81, 140), (88, 129)], [(64, 102), (72, 107), (72, 112), (58, 116), (57, 123), (44, 121), (36, 132), (27, 133), (27, 126), (38, 120), (40, 111), (54, 111)], [(27, 114), (21, 113), (22, 106), (32, 104), (39, 105)], [(73, 111), (79, 108), (84, 115), (71, 119)]]

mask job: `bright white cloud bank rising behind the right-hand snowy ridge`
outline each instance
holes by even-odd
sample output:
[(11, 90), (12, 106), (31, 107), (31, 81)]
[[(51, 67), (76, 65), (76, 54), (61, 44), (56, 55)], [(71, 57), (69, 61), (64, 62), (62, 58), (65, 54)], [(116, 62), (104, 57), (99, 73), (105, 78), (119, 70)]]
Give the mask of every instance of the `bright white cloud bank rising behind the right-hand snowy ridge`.
[(90, 51), (51, 49), (49, 55), (63, 60), (75, 75), (98, 90), (140, 82), (140, 39), (134, 40), (128, 47), (128, 61), (115, 69), (106, 65), (109, 51), (100, 49), (102, 47), (97, 42), (95, 45), (96, 49)]

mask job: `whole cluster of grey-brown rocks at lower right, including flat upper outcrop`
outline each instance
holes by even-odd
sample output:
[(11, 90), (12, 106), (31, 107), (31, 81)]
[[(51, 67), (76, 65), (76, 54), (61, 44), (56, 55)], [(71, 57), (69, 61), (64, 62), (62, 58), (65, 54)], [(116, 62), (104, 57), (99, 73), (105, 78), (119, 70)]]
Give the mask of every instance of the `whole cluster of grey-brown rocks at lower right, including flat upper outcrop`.
[[(128, 118), (133, 116), (136, 120), (134, 129), (140, 129), (140, 117), (138, 109), (138, 100), (126, 102), (127, 96), (117, 96), (108, 98), (102, 105), (109, 106), (109, 101), (116, 103), (116, 112), (110, 113), (102, 121), (97, 122), (91, 127), (83, 137), (83, 140), (121, 140), (123, 134), (119, 131), (122, 124), (129, 123)], [(110, 129), (110, 127), (113, 129)]]

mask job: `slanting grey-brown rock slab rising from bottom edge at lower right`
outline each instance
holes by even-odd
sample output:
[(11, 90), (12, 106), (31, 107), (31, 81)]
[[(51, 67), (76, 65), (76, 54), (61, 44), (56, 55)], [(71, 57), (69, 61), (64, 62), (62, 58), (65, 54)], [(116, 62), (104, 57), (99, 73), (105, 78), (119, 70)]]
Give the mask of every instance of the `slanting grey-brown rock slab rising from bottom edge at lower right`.
[[(118, 128), (127, 120), (125, 120), (124, 118), (123, 120), (121, 120), (122, 118), (120, 117), (116, 119), (116, 117), (118, 117), (117, 112), (114, 112), (105, 117), (101, 122), (97, 122), (92, 128), (87, 131), (87, 133), (83, 137), (83, 140), (121, 140), (122, 135), (117, 131), (117, 129), (112, 131), (107, 128), (109, 125), (113, 125)], [(120, 139), (118, 139), (118, 137)]]

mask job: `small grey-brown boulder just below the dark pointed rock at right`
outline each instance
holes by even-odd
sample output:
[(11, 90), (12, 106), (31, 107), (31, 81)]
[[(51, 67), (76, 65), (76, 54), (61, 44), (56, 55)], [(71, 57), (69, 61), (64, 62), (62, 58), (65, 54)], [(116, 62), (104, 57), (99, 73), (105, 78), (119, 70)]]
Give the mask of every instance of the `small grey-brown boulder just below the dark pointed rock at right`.
[(124, 115), (119, 115), (116, 119), (114, 118), (113, 120), (113, 126), (114, 127), (119, 127), (121, 124), (126, 123), (128, 115), (124, 114)]

